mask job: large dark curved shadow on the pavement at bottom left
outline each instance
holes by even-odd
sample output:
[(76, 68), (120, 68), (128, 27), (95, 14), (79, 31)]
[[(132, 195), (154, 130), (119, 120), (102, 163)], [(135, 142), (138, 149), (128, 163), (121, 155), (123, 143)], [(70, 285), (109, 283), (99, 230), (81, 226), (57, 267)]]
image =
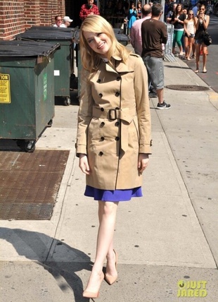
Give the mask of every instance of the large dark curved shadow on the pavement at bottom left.
[[(60, 282), (60, 280), (64, 278), (73, 291), (75, 302), (87, 301), (87, 298), (82, 297), (82, 280), (75, 272), (81, 270), (91, 271), (93, 263), (90, 262), (88, 255), (68, 246), (68, 244), (63, 241), (56, 240), (53, 237), (34, 231), (0, 228), (0, 238), (11, 243), (18, 255), (34, 260), (37, 264), (44, 267), (45, 270), (53, 275), (53, 278), (56, 279), (57, 286), (59, 286), (63, 292), (68, 290), (68, 286), (64, 285), (63, 282)], [(54, 259), (53, 255), (51, 255), (51, 246), (56, 246), (56, 250), (61, 248), (58, 255), (62, 255), (62, 250), (63, 255), (68, 253), (67, 257), (70, 259), (70, 262), (63, 262), (63, 258), (61, 256), (59, 256), (59, 258), (58, 256), (56, 257), (56, 253), (53, 253)], [(46, 259), (42, 260), (41, 258)]]

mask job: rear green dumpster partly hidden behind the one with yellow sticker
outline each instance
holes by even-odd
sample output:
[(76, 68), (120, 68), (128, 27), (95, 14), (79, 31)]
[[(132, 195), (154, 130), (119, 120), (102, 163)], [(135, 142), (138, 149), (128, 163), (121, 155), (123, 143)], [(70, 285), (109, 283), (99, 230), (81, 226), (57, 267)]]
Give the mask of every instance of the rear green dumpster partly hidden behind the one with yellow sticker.
[[(63, 29), (63, 30), (62, 30)], [(63, 97), (63, 104), (70, 105), (70, 77), (72, 74), (73, 57), (73, 32), (65, 28), (33, 28), (16, 36), (17, 40), (33, 40), (58, 42), (60, 50), (54, 59), (55, 96)]]

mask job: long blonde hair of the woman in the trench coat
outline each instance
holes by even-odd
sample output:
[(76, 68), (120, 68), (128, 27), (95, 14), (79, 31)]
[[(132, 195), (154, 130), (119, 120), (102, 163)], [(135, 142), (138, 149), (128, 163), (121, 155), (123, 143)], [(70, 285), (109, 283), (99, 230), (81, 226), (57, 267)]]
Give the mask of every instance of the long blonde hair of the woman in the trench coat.
[(86, 70), (90, 71), (91, 73), (97, 71), (98, 66), (101, 63), (101, 56), (91, 49), (89, 43), (84, 37), (84, 32), (105, 33), (105, 35), (107, 35), (112, 42), (112, 45), (108, 51), (108, 60), (110, 61), (112, 56), (120, 56), (124, 63), (127, 61), (130, 52), (129, 50), (127, 50), (126, 47), (124, 47), (124, 45), (120, 44), (117, 41), (115, 37), (115, 32), (110, 23), (108, 23), (108, 21), (101, 16), (92, 15), (87, 17), (83, 21), (82, 26), (79, 30), (79, 49), (81, 54), (82, 66)]

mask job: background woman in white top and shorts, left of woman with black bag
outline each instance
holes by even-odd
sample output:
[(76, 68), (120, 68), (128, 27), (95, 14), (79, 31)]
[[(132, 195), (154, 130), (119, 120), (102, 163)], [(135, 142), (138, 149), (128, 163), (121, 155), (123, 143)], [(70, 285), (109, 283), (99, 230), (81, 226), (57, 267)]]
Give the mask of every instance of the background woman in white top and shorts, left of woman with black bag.
[(193, 41), (195, 37), (195, 19), (193, 18), (193, 11), (188, 11), (188, 18), (184, 20), (184, 45), (186, 56), (185, 59), (190, 61), (191, 51), (193, 50)]

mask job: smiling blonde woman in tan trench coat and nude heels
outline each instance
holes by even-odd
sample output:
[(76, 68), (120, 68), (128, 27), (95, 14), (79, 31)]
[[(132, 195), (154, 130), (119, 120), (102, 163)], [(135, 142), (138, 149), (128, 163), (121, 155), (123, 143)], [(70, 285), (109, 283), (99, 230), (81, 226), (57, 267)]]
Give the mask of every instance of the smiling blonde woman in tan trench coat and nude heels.
[(79, 47), (83, 70), (77, 157), (86, 174), (84, 195), (98, 200), (99, 220), (96, 258), (83, 296), (97, 298), (104, 278), (108, 284), (117, 279), (113, 234), (118, 204), (142, 196), (150, 154), (148, 75), (141, 56), (117, 42), (101, 16), (84, 20)]

